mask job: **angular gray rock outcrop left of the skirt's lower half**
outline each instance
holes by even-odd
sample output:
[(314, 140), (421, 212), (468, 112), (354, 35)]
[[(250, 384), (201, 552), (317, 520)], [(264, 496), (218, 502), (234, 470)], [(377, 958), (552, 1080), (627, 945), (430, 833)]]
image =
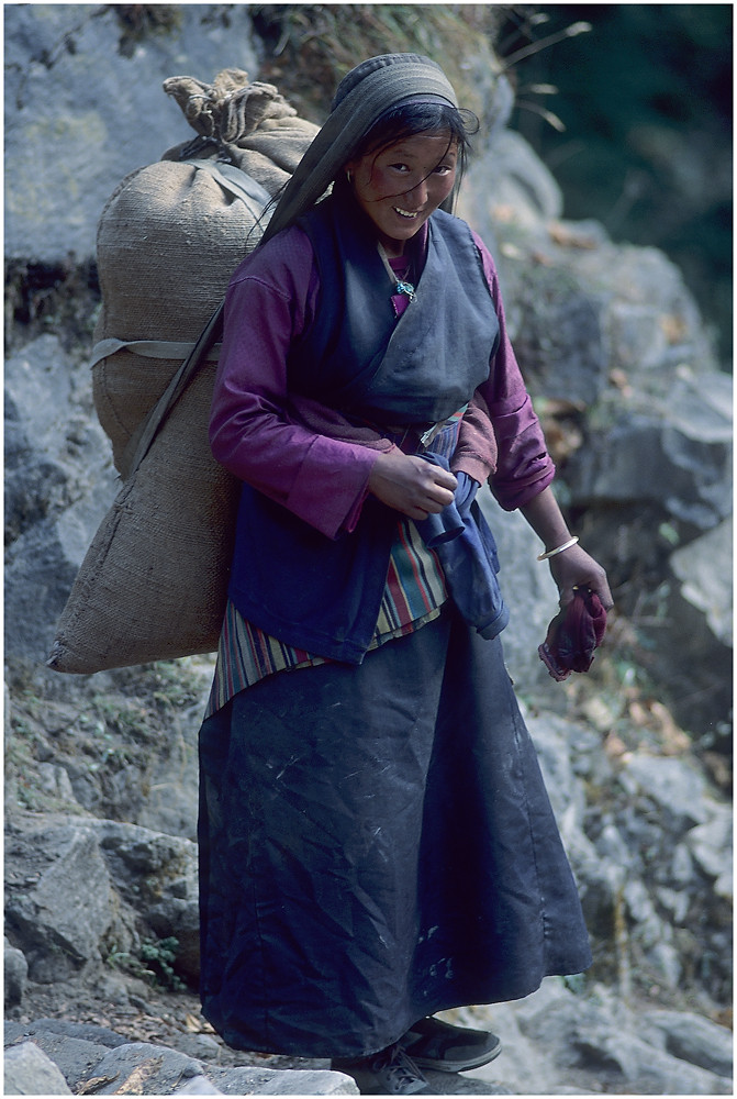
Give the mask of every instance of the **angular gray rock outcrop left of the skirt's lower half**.
[[(37, 876), (23, 867), (43, 864)], [(9, 840), (8, 926), (24, 945), (33, 980), (69, 977), (109, 953), (137, 950), (136, 922), (152, 941), (172, 937), (175, 967), (199, 974), (197, 847), (134, 824), (69, 817)], [(145, 931), (143, 934), (145, 935)]]

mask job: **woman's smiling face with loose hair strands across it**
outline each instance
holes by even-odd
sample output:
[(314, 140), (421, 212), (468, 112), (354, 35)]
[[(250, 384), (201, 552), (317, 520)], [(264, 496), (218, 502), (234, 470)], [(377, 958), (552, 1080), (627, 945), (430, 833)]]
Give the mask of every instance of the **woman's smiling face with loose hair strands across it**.
[(389, 256), (411, 240), (453, 190), (458, 146), (447, 133), (403, 137), (346, 165), (360, 208)]

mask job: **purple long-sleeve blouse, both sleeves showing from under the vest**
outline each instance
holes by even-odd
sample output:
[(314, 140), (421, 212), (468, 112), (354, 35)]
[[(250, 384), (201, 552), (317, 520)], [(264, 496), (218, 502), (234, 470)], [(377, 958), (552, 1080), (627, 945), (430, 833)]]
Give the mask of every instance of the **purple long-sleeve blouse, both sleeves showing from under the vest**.
[[(493, 259), (476, 241), (500, 344), (489, 380), (464, 417), (453, 469), (489, 479), (501, 506), (512, 511), (550, 484), (555, 467), (509, 341)], [(393, 444), (369, 429), (342, 430), (339, 417), (333, 428), (327, 410), (289, 393), (289, 348), (310, 324), (319, 289), (312, 245), (297, 226), (237, 268), (225, 299), (210, 442), (236, 477), (336, 537), (354, 529), (373, 463)]]

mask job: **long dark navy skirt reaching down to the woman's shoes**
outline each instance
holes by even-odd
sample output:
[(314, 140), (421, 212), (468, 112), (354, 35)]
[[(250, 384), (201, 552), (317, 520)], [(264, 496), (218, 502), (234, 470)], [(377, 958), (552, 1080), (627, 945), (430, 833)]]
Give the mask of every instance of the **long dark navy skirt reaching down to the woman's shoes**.
[(499, 640), (451, 607), (204, 722), (201, 992), (242, 1050), (360, 1056), (591, 963)]

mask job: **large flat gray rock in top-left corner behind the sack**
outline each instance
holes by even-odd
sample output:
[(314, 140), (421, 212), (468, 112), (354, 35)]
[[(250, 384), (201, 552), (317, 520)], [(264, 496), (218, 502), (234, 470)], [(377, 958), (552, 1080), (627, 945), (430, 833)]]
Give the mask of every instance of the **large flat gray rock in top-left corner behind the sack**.
[(119, 181), (194, 137), (163, 81), (256, 70), (247, 4), (171, 11), (169, 30), (153, 29), (123, 52), (115, 5), (7, 8), (5, 256), (92, 256), (98, 217)]

